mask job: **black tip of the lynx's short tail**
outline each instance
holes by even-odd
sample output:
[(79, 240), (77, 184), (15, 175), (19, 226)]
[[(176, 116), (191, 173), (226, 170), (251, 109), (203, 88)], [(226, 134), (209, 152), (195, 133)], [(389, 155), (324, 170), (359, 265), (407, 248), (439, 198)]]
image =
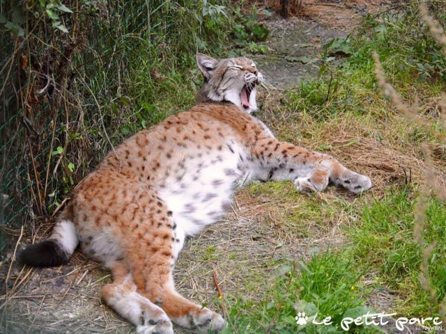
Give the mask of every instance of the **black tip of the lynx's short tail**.
[(26, 246), (18, 255), (20, 264), (31, 267), (57, 267), (66, 264), (69, 255), (56, 240), (45, 240), (38, 244)]

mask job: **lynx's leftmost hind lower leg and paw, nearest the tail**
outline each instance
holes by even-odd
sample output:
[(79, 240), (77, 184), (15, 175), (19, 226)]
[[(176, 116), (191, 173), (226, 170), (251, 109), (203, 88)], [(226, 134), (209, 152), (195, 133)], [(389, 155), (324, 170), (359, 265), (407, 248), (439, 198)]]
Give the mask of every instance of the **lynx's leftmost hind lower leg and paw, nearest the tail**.
[(137, 326), (138, 334), (173, 334), (164, 311), (137, 292), (132, 275), (123, 262), (112, 264), (113, 283), (102, 288), (102, 298), (118, 315)]

